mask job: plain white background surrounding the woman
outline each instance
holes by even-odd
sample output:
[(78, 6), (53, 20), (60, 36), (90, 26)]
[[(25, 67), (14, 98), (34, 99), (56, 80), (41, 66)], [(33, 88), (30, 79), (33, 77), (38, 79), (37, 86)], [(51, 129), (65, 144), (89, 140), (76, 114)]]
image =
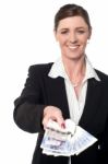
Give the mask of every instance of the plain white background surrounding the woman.
[(59, 7), (75, 2), (89, 13), (93, 36), (87, 56), (108, 73), (107, 0), (0, 0), (0, 164), (29, 164), (37, 134), (13, 121), (13, 101), (20, 95), (31, 65), (55, 61), (60, 55), (53, 37)]

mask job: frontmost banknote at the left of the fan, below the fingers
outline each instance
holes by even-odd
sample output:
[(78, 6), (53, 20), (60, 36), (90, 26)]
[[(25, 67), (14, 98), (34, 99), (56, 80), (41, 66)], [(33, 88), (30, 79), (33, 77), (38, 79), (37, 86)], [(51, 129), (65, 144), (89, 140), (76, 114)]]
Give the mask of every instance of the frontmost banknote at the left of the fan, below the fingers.
[(70, 152), (70, 131), (47, 128), (40, 148), (52, 152)]

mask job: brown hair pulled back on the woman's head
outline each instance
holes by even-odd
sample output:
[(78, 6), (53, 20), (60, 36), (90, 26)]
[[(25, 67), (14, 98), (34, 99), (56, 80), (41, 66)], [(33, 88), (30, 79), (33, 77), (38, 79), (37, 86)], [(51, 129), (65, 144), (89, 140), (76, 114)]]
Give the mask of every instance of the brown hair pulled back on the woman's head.
[(61, 7), (55, 15), (55, 31), (57, 31), (61, 20), (71, 16), (82, 16), (88, 25), (88, 28), (92, 28), (88, 13), (83, 7), (77, 4), (65, 4)]

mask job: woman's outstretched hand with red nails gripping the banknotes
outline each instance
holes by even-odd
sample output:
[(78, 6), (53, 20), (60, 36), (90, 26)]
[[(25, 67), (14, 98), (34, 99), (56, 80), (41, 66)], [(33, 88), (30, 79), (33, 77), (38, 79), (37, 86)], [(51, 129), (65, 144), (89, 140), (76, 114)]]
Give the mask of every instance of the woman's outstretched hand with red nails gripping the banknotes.
[(43, 118), (44, 129), (46, 129), (49, 119), (57, 121), (60, 127), (64, 128), (64, 119), (62, 117), (62, 113), (60, 108), (55, 107), (55, 106), (45, 107), (44, 118)]

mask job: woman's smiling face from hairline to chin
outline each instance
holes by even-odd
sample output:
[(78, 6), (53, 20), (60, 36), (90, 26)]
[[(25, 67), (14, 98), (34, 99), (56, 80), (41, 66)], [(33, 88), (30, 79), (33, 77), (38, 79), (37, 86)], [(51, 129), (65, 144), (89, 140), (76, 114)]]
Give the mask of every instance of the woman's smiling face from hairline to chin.
[(55, 32), (63, 58), (80, 59), (85, 55), (91, 30), (82, 16), (71, 16), (59, 22)]

